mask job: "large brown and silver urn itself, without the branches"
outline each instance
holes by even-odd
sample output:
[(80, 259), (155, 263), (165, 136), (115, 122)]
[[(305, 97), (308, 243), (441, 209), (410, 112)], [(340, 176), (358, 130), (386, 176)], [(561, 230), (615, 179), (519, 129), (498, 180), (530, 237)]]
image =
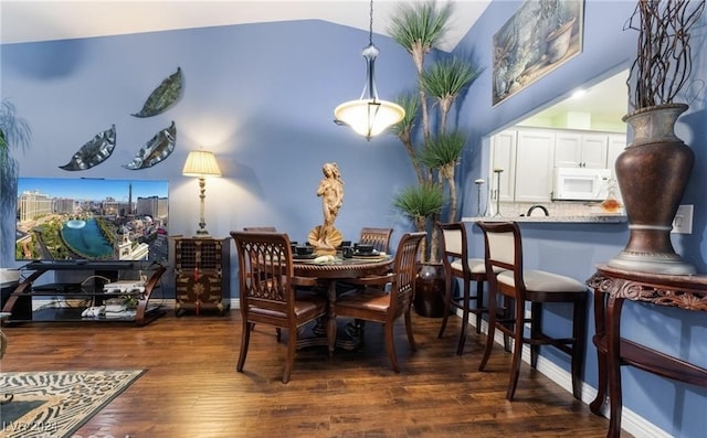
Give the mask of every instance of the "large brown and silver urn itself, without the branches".
[(634, 138), (616, 159), (615, 170), (630, 236), (609, 266), (653, 274), (695, 274), (695, 267), (685, 263), (671, 243), (673, 218), (695, 159), (674, 130), (687, 108), (685, 104), (659, 105), (623, 118)]

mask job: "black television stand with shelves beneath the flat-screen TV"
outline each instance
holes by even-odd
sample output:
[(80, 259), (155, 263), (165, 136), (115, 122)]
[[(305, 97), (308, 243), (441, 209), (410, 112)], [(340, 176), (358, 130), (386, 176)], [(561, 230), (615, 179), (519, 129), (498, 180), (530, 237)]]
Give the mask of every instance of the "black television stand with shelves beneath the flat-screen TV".
[[(32, 261), (20, 269), (27, 274), (23, 274), (24, 278), (2, 308), (2, 312), (11, 313), (3, 321), (4, 325), (54, 321), (133, 322), (145, 325), (165, 314), (160, 306), (150, 303), (152, 291), (159, 287), (166, 270), (157, 263)], [(34, 285), (42, 275), (56, 271), (86, 271), (87, 276), (81, 282)], [(118, 282), (126, 275), (144, 276), (144, 279)], [(105, 288), (105, 285), (109, 288)], [(77, 303), (33, 309), (32, 300), (39, 297), (63, 297), (64, 302)]]

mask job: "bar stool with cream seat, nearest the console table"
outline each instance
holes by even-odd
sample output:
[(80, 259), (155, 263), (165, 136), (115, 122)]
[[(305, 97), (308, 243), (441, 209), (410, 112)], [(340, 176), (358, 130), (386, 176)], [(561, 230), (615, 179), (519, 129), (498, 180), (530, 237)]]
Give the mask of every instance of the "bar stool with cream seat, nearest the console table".
[[(513, 400), (520, 374), (523, 344), (530, 346), (530, 366), (538, 362), (540, 345), (552, 345), (570, 355), (572, 395), (581, 399), (581, 370), (584, 362), (584, 336), (587, 332), (587, 286), (573, 278), (545, 270), (523, 267), (523, 241), (515, 222), (478, 222), (484, 232), (486, 249), (486, 277), (488, 293), (488, 336), (479, 371), (484, 371), (494, 346), (495, 330), (514, 340), (510, 378), (506, 398)], [(495, 269), (502, 269), (495, 274)], [(513, 302), (510, 318), (499, 318), (496, 311), (500, 297)], [(542, 307), (549, 302), (572, 305), (572, 333), (568, 338), (552, 338), (542, 330)], [(526, 318), (526, 303), (530, 303), (530, 316)], [(525, 331), (525, 324), (529, 330)]]

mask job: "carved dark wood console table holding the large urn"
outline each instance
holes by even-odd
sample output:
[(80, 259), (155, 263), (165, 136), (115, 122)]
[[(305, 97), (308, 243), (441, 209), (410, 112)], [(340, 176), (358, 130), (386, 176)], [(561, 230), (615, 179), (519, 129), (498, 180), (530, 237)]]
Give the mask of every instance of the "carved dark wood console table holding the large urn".
[(609, 431), (621, 434), (621, 366), (640, 370), (693, 385), (707, 387), (707, 370), (621, 338), (621, 308), (624, 300), (707, 311), (707, 276), (673, 276), (635, 273), (600, 265), (587, 280), (594, 289), (593, 343), (599, 356), (598, 394), (589, 405), (600, 415), (609, 388)]

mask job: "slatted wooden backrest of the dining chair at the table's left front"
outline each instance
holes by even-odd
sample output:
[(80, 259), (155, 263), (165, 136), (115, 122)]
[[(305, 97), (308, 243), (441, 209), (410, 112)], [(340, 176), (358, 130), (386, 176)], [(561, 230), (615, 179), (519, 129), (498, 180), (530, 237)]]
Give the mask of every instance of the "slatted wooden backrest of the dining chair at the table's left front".
[(252, 307), (294, 314), (293, 258), (287, 234), (231, 232), (239, 258), (241, 311)]

